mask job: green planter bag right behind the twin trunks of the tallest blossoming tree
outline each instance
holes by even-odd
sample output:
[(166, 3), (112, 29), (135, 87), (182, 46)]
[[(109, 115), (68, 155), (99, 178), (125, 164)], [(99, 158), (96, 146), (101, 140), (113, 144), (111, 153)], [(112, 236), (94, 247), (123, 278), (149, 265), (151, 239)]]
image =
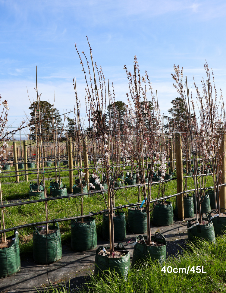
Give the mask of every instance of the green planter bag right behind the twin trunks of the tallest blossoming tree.
[[(109, 240), (109, 220), (108, 213), (103, 214), (102, 235), (105, 240)], [(114, 221), (114, 240), (121, 241), (126, 238), (126, 216), (124, 212), (115, 211)]]

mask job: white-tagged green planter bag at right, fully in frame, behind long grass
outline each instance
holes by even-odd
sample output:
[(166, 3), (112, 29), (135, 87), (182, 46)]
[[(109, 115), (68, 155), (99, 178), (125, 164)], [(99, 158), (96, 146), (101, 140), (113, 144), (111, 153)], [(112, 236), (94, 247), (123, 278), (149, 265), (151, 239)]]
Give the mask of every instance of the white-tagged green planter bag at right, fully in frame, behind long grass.
[[(203, 222), (206, 222), (208, 220), (204, 220)], [(191, 222), (195, 222), (192, 223)], [(215, 232), (213, 223), (208, 221), (206, 225), (199, 225), (199, 222), (196, 221), (196, 219), (191, 219), (187, 221), (187, 236), (188, 240), (191, 242), (196, 242), (197, 239), (204, 239), (211, 243), (216, 242), (215, 238)]]

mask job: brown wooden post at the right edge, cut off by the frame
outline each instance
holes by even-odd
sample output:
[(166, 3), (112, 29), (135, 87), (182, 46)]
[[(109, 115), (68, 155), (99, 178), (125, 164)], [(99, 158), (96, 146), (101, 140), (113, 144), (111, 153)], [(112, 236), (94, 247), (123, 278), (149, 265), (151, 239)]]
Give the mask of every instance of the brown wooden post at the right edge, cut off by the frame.
[[(219, 150), (219, 155), (221, 156), (220, 169), (221, 169), (221, 184), (226, 183), (226, 160), (225, 160), (225, 130), (221, 134), (221, 148)], [(220, 209), (226, 209), (226, 186), (221, 186), (219, 189), (220, 197)]]

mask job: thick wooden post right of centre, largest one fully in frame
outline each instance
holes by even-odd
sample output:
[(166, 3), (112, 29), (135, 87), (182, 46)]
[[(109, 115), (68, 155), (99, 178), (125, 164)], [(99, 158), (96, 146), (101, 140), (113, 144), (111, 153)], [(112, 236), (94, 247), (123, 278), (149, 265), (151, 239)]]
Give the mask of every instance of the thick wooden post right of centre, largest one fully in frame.
[[(177, 166), (177, 193), (183, 191), (183, 163), (182, 163), (182, 142), (179, 133), (175, 134), (175, 153)], [(184, 220), (184, 195), (177, 195), (178, 218)]]

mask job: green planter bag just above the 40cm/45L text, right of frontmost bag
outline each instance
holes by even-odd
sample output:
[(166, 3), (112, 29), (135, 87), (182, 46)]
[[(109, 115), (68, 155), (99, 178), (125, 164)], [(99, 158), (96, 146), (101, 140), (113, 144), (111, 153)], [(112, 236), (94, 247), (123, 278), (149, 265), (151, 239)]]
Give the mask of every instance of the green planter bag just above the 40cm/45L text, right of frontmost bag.
[(145, 260), (152, 260), (152, 261), (158, 260), (160, 264), (163, 264), (165, 262), (166, 240), (162, 234), (155, 232), (155, 235), (151, 236), (151, 241), (155, 241), (158, 244), (163, 244), (162, 246), (147, 245), (145, 243), (147, 236), (139, 235), (136, 238), (136, 241), (138, 239), (143, 240), (144, 243), (137, 242), (135, 244), (134, 250), (133, 250), (132, 266), (136, 262), (143, 263)]

